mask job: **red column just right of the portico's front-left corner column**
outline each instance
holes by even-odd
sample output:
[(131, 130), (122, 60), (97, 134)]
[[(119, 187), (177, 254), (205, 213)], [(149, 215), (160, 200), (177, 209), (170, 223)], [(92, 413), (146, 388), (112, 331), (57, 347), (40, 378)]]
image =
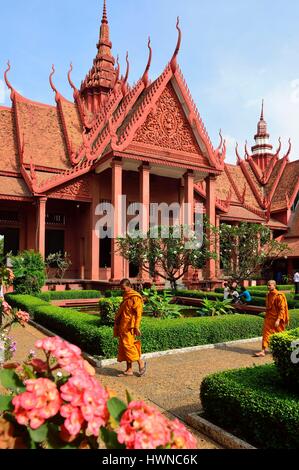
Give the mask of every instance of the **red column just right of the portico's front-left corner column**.
[[(139, 167), (139, 183), (139, 200), (142, 204), (140, 230), (142, 233), (146, 234), (149, 230), (150, 223), (150, 166), (147, 164)], [(143, 282), (149, 282), (150, 280), (149, 273), (143, 269), (140, 272), (140, 277)]]

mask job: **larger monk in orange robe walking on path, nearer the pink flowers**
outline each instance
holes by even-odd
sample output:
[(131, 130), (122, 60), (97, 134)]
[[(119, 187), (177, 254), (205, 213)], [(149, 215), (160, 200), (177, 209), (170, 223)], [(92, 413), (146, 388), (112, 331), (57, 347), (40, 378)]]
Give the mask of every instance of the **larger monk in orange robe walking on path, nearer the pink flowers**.
[(141, 295), (134, 291), (128, 279), (123, 279), (120, 283), (124, 291), (123, 302), (115, 316), (114, 337), (119, 338), (118, 362), (127, 362), (127, 369), (119, 377), (124, 375), (132, 376), (133, 362), (138, 362), (139, 375), (146, 372), (146, 362), (141, 359), (141, 342), (136, 340), (136, 336), (141, 336), (140, 323), (143, 313), (143, 300)]

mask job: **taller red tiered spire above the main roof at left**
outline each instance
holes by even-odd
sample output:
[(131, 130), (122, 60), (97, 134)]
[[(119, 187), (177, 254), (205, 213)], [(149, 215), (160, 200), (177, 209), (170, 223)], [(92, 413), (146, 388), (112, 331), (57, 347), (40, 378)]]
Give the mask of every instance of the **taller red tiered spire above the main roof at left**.
[(112, 55), (112, 42), (110, 41), (106, 0), (104, 0), (103, 4), (97, 49), (98, 52), (93, 61), (93, 66), (86, 75), (80, 90), (88, 109), (93, 113), (99, 111), (106, 95), (113, 89), (116, 78), (115, 59)]

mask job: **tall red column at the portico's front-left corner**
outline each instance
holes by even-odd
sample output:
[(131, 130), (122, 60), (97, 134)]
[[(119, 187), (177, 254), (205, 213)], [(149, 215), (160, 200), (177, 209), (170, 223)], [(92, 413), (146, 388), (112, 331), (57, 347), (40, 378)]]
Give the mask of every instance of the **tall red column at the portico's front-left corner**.
[(122, 196), (122, 174), (123, 165), (121, 160), (114, 160), (112, 167), (112, 205), (114, 208), (113, 216), (113, 238), (111, 250), (111, 281), (118, 282), (124, 276), (124, 259), (117, 252), (117, 238), (121, 235), (122, 229), (122, 205), (120, 196)]

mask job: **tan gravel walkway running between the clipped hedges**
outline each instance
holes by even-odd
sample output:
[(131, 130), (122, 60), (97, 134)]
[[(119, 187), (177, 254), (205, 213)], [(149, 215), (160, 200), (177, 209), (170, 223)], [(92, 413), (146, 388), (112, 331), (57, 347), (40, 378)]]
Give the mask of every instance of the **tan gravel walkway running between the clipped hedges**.
[[(34, 348), (35, 341), (44, 337), (32, 326), (14, 329), (13, 336), (17, 341), (16, 360), (24, 359), (28, 351)], [(117, 377), (123, 368), (121, 364), (98, 369), (97, 377), (124, 401), (128, 390), (135, 399), (143, 399), (158, 406), (167, 416), (184, 421), (187, 414), (201, 409), (199, 388), (205, 376), (271, 362), (270, 355), (258, 359), (252, 357), (259, 348), (260, 343), (248, 342), (162, 356), (147, 361), (148, 369), (144, 377), (138, 377), (137, 370), (134, 377)], [(193, 433), (197, 437), (198, 448), (220, 448), (207, 436), (196, 431)]]

